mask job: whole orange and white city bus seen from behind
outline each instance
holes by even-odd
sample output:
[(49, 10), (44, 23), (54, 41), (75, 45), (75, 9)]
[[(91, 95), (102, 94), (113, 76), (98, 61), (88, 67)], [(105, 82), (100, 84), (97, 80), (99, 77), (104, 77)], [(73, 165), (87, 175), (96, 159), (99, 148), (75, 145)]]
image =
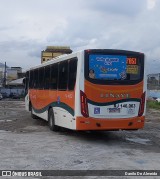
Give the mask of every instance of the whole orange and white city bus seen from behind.
[(144, 127), (143, 53), (86, 49), (51, 59), (26, 72), (26, 110), (49, 128), (137, 130)]

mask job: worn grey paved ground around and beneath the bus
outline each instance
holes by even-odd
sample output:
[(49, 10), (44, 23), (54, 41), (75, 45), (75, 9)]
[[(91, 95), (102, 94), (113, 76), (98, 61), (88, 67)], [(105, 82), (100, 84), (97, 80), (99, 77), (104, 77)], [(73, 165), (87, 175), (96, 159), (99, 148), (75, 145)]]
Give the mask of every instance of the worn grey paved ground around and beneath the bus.
[(147, 110), (138, 131), (52, 132), (23, 101), (0, 101), (0, 169), (158, 170), (160, 111)]

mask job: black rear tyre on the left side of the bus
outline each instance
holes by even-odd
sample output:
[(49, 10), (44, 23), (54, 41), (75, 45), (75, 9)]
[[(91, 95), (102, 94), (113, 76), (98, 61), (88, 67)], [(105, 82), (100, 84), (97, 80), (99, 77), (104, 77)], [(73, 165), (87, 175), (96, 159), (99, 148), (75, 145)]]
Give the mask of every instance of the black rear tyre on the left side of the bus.
[(55, 118), (54, 118), (54, 113), (53, 113), (53, 109), (49, 109), (48, 112), (48, 124), (49, 124), (49, 128), (51, 131), (59, 131), (59, 127), (55, 125)]

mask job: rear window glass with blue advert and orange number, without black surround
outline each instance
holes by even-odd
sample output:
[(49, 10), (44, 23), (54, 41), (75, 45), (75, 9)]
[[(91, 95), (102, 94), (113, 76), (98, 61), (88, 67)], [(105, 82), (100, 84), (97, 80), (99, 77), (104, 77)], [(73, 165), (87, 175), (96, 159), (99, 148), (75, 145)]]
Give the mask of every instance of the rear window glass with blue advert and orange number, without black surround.
[(95, 80), (139, 80), (141, 62), (125, 55), (89, 55), (88, 77)]

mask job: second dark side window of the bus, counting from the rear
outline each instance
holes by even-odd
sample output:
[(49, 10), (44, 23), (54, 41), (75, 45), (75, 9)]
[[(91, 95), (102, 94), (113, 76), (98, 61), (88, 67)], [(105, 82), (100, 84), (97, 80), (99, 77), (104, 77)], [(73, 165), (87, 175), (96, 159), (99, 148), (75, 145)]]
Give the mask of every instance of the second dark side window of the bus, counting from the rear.
[(68, 61), (59, 63), (58, 89), (67, 90), (68, 83)]

